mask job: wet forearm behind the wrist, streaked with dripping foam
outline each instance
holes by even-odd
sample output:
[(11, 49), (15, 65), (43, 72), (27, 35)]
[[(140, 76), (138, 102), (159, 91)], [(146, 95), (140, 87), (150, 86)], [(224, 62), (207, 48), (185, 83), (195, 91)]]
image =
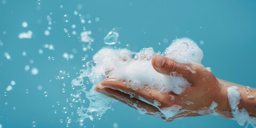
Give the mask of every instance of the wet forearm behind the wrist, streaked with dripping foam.
[(233, 114), (231, 113), (232, 108), (229, 106), (228, 102), (228, 87), (230, 86), (237, 86), (237, 91), (240, 93), (241, 99), (239, 100), (239, 104), (237, 105), (238, 109), (245, 109), (250, 116), (256, 117), (256, 90), (252, 89), (250, 87), (246, 87), (243, 85), (238, 85), (235, 83), (223, 81), (221, 79), (218, 79), (220, 82), (221, 87), (221, 93), (222, 93), (222, 99), (219, 100), (223, 105), (217, 108), (219, 111), (219, 114), (226, 118), (232, 118)]

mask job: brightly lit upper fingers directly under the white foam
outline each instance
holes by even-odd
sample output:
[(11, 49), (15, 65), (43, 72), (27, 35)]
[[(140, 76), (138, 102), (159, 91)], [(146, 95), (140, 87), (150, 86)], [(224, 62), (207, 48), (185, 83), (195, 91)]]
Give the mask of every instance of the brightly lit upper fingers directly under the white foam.
[(173, 97), (175, 97), (175, 95), (176, 95), (172, 92), (170, 92), (170, 94), (159, 93), (158, 90), (150, 89), (150, 88), (142, 89), (142, 90), (132, 90), (127, 87), (125, 81), (118, 81), (115, 78), (104, 79), (100, 83), (100, 86), (109, 87), (110, 89), (118, 90), (118, 91), (124, 92), (126, 94), (130, 94), (133, 97), (143, 100), (143, 101), (145, 99), (145, 100), (149, 101), (151, 104), (156, 103), (156, 101), (157, 101), (157, 102), (161, 103), (161, 105), (158, 106), (159, 108), (171, 106), (173, 101), (170, 100), (170, 94), (174, 95)]

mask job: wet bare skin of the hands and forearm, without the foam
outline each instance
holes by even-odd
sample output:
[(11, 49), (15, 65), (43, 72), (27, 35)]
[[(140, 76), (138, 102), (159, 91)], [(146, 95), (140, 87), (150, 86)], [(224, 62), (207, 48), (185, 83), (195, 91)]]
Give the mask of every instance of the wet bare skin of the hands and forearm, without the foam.
[[(250, 116), (256, 117), (256, 100), (247, 99), (249, 95), (256, 96), (255, 89), (245, 90), (245, 86), (216, 78), (211, 71), (206, 70), (205, 67), (195, 64), (177, 63), (161, 55), (155, 55), (151, 63), (158, 73), (165, 75), (170, 75), (171, 73), (180, 74), (187, 79), (191, 86), (186, 88), (181, 94), (175, 94), (173, 92), (160, 93), (157, 89), (150, 89), (149, 93), (147, 89), (132, 90), (127, 87), (125, 81), (116, 78), (107, 78), (95, 87), (95, 91), (106, 94), (108, 97), (121, 101), (132, 108), (146, 109), (146, 114), (148, 115), (154, 115), (157, 111), (161, 113), (159, 109), (162, 108), (171, 107), (173, 105), (181, 106), (182, 109), (173, 117), (165, 118), (161, 116), (165, 121), (173, 121), (178, 118), (202, 116), (213, 112), (225, 118), (233, 118), (228, 103), (227, 88), (229, 86), (237, 86), (239, 87), (238, 92), (241, 93), (242, 97), (238, 108), (245, 108)], [(191, 70), (187, 68), (188, 66)], [(194, 71), (196, 71), (196, 73), (194, 73)], [(130, 95), (132, 95), (132, 97), (130, 97)], [(170, 95), (172, 98), (170, 98)], [(161, 103), (161, 106), (155, 107), (141, 101), (141, 98), (151, 103), (157, 100)], [(218, 106), (213, 110), (209, 108), (212, 101), (218, 103)], [(134, 103), (137, 107), (134, 107)], [(197, 113), (199, 111), (203, 111), (203, 113)]]

